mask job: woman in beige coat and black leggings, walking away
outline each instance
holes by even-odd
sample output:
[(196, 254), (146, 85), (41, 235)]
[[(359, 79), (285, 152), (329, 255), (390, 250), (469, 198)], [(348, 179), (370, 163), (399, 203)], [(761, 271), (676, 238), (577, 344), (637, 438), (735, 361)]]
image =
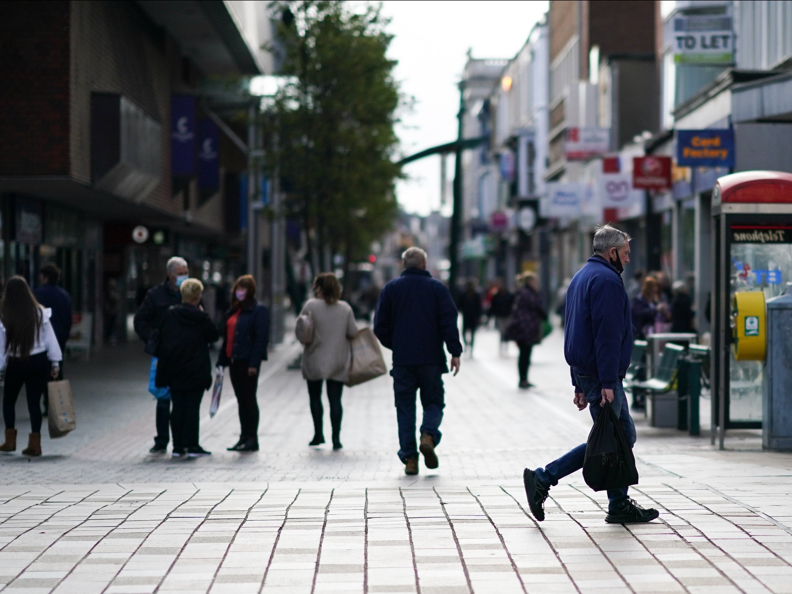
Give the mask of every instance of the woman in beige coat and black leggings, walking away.
[(303, 352), (303, 377), (308, 382), (310, 415), (314, 417), (314, 439), (310, 444), (325, 443), (322, 431), (322, 380), (327, 382), (330, 401), (330, 425), (333, 427), (333, 450), (341, 449), (341, 390), (349, 377), (352, 349), (349, 341), (357, 336), (352, 307), (341, 301), (341, 285), (332, 272), (322, 272), (314, 280), (314, 295), (302, 314), (314, 319), (314, 337)]

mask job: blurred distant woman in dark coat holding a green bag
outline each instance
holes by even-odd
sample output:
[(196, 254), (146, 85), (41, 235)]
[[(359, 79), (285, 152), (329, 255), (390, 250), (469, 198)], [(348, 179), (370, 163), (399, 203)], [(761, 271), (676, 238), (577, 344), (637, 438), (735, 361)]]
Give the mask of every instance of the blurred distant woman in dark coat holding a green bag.
[(534, 345), (542, 342), (542, 321), (547, 319), (547, 313), (539, 296), (539, 281), (536, 275), (533, 272), (524, 272), (517, 277), (517, 282), (523, 287), (517, 293), (512, 321), (506, 328), (506, 338), (509, 341), (516, 341), (517, 347), (520, 348), (517, 371), (520, 374), (519, 387), (525, 390), (533, 386), (528, 383), (531, 351)]

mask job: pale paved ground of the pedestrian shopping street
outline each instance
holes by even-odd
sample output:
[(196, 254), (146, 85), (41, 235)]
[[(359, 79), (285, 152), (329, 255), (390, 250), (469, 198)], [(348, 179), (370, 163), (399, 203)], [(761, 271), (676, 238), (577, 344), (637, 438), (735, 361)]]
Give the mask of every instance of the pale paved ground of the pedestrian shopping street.
[(792, 592), (792, 456), (761, 451), (758, 432), (729, 432), (717, 451), (707, 425), (691, 437), (637, 414), (631, 493), (660, 519), (605, 524), (605, 494), (576, 473), (533, 520), (524, 466), (591, 426), (572, 405), (558, 330), (535, 348), (528, 391), (516, 352), (498, 356), (497, 335), (478, 334), (474, 359), (444, 376), (440, 468), (421, 463), (417, 477), (395, 453), (387, 376), (345, 389), (343, 450), (307, 446), (295, 345), (262, 369), (261, 451), (225, 450), (238, 431), (227, 385), (214, 418), (202, 406), (211, 457), (149, 455), (138, 347), (67, 360), (77, 430), (45, 436), (40, 459), (0, 459), (2, 592)]

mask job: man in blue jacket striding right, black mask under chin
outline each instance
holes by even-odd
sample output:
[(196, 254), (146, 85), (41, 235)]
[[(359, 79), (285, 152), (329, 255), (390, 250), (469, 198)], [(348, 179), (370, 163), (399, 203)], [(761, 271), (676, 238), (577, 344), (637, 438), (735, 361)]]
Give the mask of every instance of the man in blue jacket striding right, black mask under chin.
[[(573, 402), (578, 410), (590, 406), (592, 419), (605, 400), (622, 421), (630, 447), (635, 425), (622, 387), (633, 348), (630, 299), (622, 282), (623, 266), (630, 261), (630, 236), (610, 225), (597, 228), (594, 255), (572, 279), (566, 293), (564, 356), (569, 364)], [(544, 502), (551, 486), (583, 467), (586, 444), (581, 444), (544, 468), (523, 472), (528, 506), (536, 520), (544, 520)], [(638, 524), (654, 520), (655, 509), (644, 509), (627, 497), (627, 487), (608, 489), (610, 524)]]

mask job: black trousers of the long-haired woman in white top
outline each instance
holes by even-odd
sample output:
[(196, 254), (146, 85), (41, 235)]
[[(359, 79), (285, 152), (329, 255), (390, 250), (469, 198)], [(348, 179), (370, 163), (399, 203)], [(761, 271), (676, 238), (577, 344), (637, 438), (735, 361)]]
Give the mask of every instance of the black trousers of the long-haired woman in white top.
[(17, 422), (16, 406), (19, 390), (25, 386), (30, 414), (30, 431), (41, 432), (41, 396), (47, 394), (51, 364), (47, 352), (39, 352), (27, 359), (9, 357), (6, 362), (6, 386), (2, 394), (2, 417), (6, 429), (13, 429)]

